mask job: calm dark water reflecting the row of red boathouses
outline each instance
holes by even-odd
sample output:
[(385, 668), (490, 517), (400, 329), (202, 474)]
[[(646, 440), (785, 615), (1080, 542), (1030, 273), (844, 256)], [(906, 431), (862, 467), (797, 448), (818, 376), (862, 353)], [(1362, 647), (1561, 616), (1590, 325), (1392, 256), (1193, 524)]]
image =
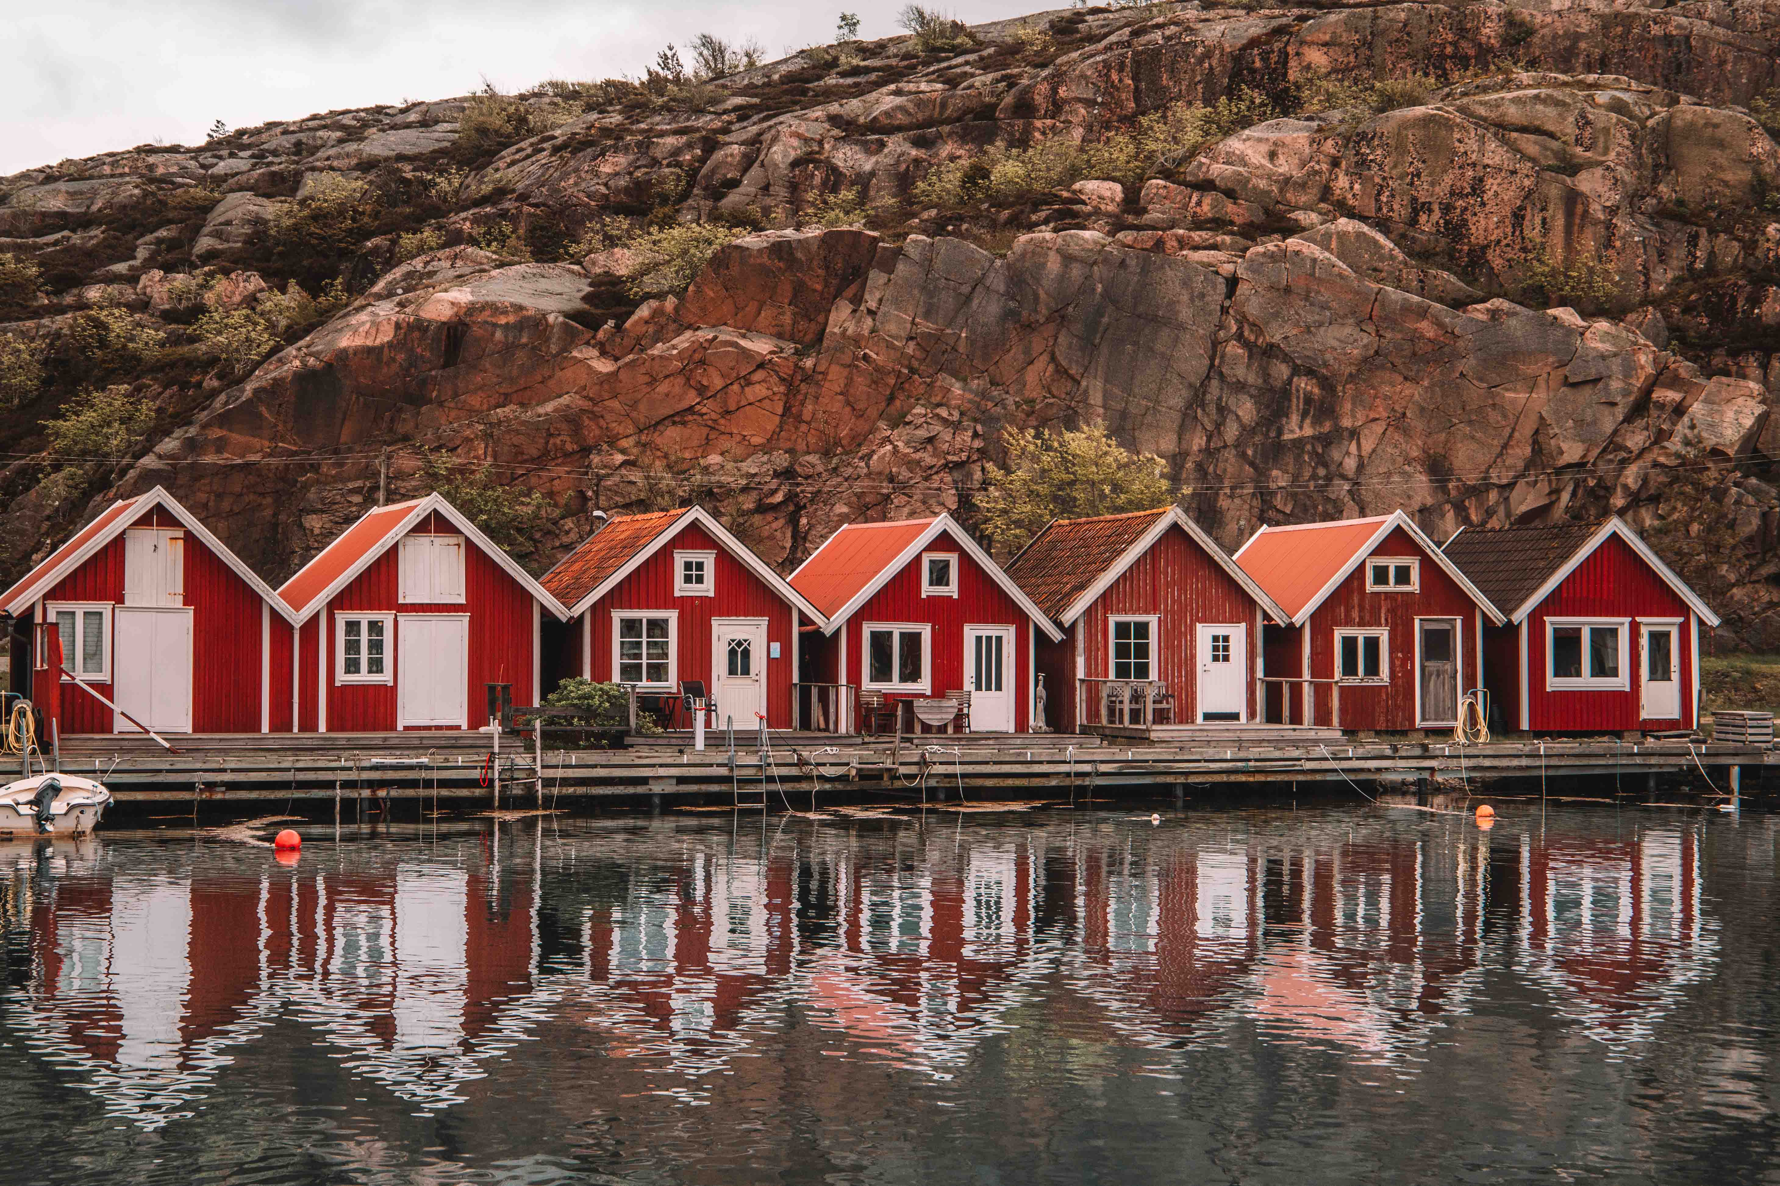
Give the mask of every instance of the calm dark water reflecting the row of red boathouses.
[(1780, 1181), (1780, 818), (0, 845), (20, 1182)]

